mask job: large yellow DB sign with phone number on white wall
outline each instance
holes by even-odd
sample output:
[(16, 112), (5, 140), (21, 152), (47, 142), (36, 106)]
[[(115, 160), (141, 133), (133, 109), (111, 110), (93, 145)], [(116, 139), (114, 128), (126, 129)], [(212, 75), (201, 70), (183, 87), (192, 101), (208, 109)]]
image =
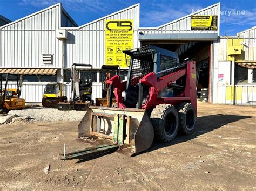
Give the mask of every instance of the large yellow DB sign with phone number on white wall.
[(105, 20), (105, 64), (127, 67), (124, 50), (133, 48), (133, 20)]

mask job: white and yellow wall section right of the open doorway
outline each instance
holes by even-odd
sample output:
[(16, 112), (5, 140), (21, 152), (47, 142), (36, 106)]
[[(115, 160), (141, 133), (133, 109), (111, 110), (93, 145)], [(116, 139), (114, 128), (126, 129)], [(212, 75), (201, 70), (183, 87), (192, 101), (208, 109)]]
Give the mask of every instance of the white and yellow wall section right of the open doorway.
[[(241, 45), (244, 42), (245, 45)], [(239, 59), (246, 61), (256, 61), (256, 27), (238, 33), (238, 36), (220, 37), (217, 43), (214, 43), (214, 68), (215, 68), (215, 84), (217, 85), (217, 94), (214, 96), (213, 103), (231, 104), (233, 89), (235, 88), (236, 104), (255, 104), (256, 86), (255, 84), (238, 84), (234, 88), (232, 86), (218, 84), (218, 74), (230, 72), (230, 65), (224, 67), (225, 62), (230, 62), (230, 56), (227, 55), (228, 46), (242, 46), (242, 55)], [(224, 74), (225, 75), (225, 74)], [(230, 82), (229, 82), (230, 83)], [(254, 102), (250, 102), (254, 101)]]

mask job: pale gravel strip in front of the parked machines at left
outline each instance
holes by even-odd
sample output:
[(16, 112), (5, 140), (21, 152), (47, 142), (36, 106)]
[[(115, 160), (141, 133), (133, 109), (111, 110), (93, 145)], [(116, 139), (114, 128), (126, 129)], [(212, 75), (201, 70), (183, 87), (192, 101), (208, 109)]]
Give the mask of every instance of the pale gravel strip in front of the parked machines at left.
[(80, 121), (85, 111), (58, 111), (57, 108), (27, 108), (11, 110), (8, 114), (0, 116), (0, 125), (7, 123)]

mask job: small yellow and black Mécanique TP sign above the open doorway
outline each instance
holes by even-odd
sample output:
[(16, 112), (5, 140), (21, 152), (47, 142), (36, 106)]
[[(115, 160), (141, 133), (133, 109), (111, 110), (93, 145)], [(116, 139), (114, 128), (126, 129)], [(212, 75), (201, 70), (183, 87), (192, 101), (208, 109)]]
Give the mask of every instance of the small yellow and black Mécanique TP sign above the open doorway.
[(218, 16), (191, 16), (191, 30), (217, 30)]

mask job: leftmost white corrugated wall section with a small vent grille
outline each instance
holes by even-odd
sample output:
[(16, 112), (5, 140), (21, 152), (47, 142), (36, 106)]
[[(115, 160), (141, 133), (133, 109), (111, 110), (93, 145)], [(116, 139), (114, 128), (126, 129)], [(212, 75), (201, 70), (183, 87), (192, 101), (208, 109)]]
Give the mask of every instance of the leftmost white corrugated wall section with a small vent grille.
[[(53, 5), (0, 28), (0, 67), (60, 68), (60, 42), (55, 38), (60, 6)], [(53, 54), (53, 64), (43, 65), (42, 54)]]

